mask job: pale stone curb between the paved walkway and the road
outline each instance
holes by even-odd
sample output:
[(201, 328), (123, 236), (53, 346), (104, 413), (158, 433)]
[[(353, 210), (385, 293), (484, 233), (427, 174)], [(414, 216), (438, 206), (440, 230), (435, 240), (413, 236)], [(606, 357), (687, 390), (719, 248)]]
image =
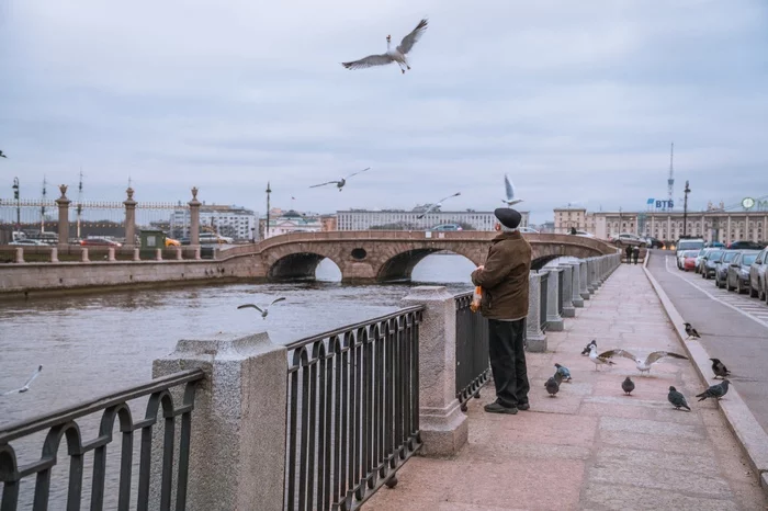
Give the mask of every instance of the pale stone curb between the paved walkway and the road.
[[(669, 321), (671, 321), (675, 332), (677, 333), (678, 340), (682, 348), (688, 353), (696, 372), (699, 377), (704, 383), (704, 385), (711, 385), (709, 382), (710, 375), (712, 374), (712, 364), (710, 362), (710, 355), (707, 350), (699, 341), (686, 341), (686, 331), (682, 326), (685, 320), (682, 316), (677, 311), (673, 305), (669, 297), (664, 292), (662, 286), (656, 282), (656, 279), (651, 274), (647, 269), (648, 260), (651, 259), (651, 253), (643, 262), (643, 271), (645, 276), (651, 282), (658, 299), (662, 302), (662, 307), (664, 307)], [(729, 429), (733, 432), (738, 444), (742, 446), (742, 451), (749, 461), (752, 469), (757, 476), (757, 482), (763, 488), (763, 492), (768, 496), (768, 433), (763, 430), (763, 427), (757, 422), (755, 416), (749, 411), (742, 396), (735, 388), (729, 389), (727, 400), (719, 400), (718, 409), (725, 418), (725, 422), (729, 424)]]

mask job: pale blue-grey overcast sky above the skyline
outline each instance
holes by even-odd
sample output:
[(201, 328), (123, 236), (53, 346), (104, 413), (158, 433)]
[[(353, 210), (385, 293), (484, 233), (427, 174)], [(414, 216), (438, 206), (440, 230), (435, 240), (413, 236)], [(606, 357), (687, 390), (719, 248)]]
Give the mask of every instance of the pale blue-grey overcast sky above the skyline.
[[(405, 75), (340, 65), (421, 18)], [(542, 223), (667, 198), (673, 141), (680, 205), (768, 195), (764, 0), (0, 2), (0, 197), (488, 211), (508, 173)]]

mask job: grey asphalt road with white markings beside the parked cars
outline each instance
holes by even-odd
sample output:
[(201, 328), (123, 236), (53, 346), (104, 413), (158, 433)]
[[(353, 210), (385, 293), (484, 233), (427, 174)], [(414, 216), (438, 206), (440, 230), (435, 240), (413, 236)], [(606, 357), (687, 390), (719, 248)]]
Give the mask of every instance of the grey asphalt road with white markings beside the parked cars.
[(652, 253), (651, 274), (699, 331), (710, 356), (732, 372), (729, 379), (768, 432), (768, 306), (749, 295), (719, 289), (713, 280), (692, 271), (678, 270), (669, 252)]

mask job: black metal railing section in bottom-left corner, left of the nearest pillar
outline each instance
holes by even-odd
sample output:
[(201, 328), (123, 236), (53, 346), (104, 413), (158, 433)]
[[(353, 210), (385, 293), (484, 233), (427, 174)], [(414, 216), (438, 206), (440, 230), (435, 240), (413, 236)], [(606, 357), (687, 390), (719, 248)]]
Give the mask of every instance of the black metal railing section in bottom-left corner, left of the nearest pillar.
[[(49, 502), (52, 472), (57, 465), (59, 444), (64, 438), (67, 442), (69, 457), (69, 481), (66, 492), (66, 509), (78, 510), (81, 506), (83, 490), (84, 456), (92, 453), (93, 470), (90, 488), (90, 509), (103, 509), (104, 482), (106, 479), (106, 447), (112, 442), (115, 419), (118, 420), (121, 432), (120, 451), (120, 486), (116, 509), (148, 510), (151, 475), (153, 428), (161, 413), (162, 466), (160, 467), (160, 502), (159, 509), (170, 510), (172, 496), (176, 496), (177, 510), (187, 507), (187, 481), (190, 457), (190, 440), (192, 431), (192, 409), (196, 383), (205, 374), (202, 370), (190, 370), (154, 379), (137, 387), (108, 394), (93, 400), (70, 408), (47, 413), (31, 420), (18, 422), (0, 430), (0, 481), (3, 485), (2, 511), (19, 508), (20, 486), (29, 476), (35, 476), (34, 502), (32, 509), (47, 510), (65, 509), (64, 502)], [(171, 389), (185, 385), (181, 406), (173, 406)], [(128, 401), (149, 397), (145, 417), (134, 422)], [(81, 424), (77, 420), (92, 413), (102, 412), (98, 436), (83, 442)], [(179, 432), (178, 459), (174, 459), (174, 439), (177, 433), (176, 418), (181, 417)], [(43, 443), (42, 455), (35, 462), (18, 465), (14, 441), (47, 430)], [(132, 477), (134, 473), (134, 432), (142, 431), (140, 454), (138, 463), (138, 489), (133, 496)], [(173, 469), (178, 470), (176, 477)], [(176, 484), (173, 484), (176, 482)], [(134, 503), (132, 506), (132, 497)], [(27, 504), (22, 503), (24, 508)], [(109, 508), (114, 504), (108, 503)]]

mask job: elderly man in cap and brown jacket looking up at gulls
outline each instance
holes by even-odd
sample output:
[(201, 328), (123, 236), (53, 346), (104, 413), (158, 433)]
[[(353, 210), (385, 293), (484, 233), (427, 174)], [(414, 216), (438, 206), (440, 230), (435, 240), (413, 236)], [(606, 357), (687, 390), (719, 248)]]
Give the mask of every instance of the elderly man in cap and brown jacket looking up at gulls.
[(472, 282), (483, 287), (481, 313), (488, 318), (488, 352), (496, 385), (490, 413), (528, 410), (528, 370), (523, 350), (531, 246), (520, 234), (521, 215), (499, 207), (494, 212), (498, 235), (492, 241), (485, 264), (472, 272)]

